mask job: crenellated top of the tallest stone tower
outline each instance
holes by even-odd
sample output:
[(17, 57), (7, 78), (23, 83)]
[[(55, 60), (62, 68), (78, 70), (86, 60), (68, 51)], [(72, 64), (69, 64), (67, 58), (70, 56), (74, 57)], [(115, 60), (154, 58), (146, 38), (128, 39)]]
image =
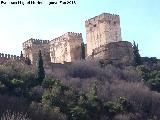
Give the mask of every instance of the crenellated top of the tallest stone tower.
[(102, 13), (98, 16), (95, 16), (91, 19), (88, 19), (85, 21), (85, 26), (88, 27), (89, 24), (96, 24), (98, 22), (103, 22), (103, 21), (107, 21), (107, 20), (110, 20), (110, 21), (117, 21), (118, 23), (120, 23), (120, 18), (119, 18), (119, 15), (116, 15), (116, 14), (110, 14), (110, 13)]

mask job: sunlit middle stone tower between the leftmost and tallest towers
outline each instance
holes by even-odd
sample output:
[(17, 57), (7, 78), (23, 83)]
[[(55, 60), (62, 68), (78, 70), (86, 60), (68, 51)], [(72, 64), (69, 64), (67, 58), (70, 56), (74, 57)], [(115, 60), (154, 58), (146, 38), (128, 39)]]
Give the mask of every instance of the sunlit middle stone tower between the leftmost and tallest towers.
[(73, 62), (80, 59), (82, 34), (68, 32), (50, 42), (52, 63)]

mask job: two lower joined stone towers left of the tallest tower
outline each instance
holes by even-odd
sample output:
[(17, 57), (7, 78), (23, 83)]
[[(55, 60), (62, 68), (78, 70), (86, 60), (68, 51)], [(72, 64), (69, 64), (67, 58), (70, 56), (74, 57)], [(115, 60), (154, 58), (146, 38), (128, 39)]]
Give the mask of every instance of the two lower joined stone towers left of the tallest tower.
[(23, 51), (32, 64), (36, 64), (39, 50), (46, 65), (49, 62), (73, 62), (80, 59), (81, 43), (81, 33), (68, 32), (51, 41), (31, 38), (23, 43)]

